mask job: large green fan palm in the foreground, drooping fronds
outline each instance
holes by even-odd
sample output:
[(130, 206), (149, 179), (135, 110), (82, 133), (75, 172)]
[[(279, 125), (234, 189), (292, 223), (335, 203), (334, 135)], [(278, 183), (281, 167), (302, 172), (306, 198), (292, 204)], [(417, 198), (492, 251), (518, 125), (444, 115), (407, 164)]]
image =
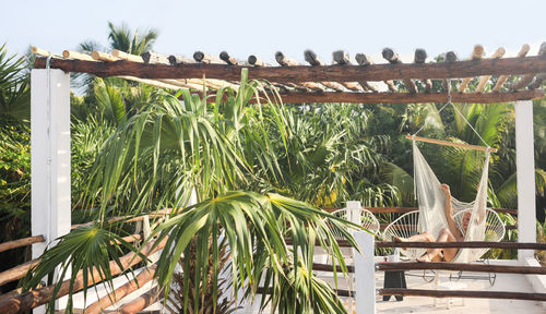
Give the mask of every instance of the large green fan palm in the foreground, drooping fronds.
[[(108, 218), (187, 204), (195, 191), (198, 203), (176, 208), (167, 221), (155, 221), (153, 234), (144, 243), (165, 244), (156, 277), (167, 288), (166, 294), (176, 265), (181, 265), (183, 275), (177, 282), (182, 282), (178, 291), (182, 292), (183, 304), (178, 305), (183, 312), (206, 309), (199, 313), (214, 313), (219, 274), (226, 270), (221, 269), (225, 242), (232, 261), (227, 268), (230, 286), (233, 291), (244, 291), (236, 294), (239, 300), (251, 300), (263, 283), (271, 294), (266, 294), (268, 289), (263, 291), (261, 305), (271, 304), (273, 312), (345, 313), (330, 286), (311, 269), (318, 241), (346, 271), (330, 228), (339, 229), (355, 244), (343, 227), (348, 222), (302, 202), (259, 193), (261, 188), (251, 183), (265, 172), (282, 180), (283, 173), (275, 166), (280, 156), (270, 149), (270, 134), (285, 138), (290, 130), (283, 111), (272, 101), (248, 105), (260, 83), (247, 82), (245, 70), (241, 76), (238, 93), (218, 90), (214, 105), (207, 105), (206, 95), (200, 98), (182, 90), (171, 96), (158, 90), (146, 108), (123, 120), (90, 178), (87, 204), (99, 200), (93, 225), (73, 230), (45, 252), (25, 289), (39, 285), (37, 278), (58, 266), (60, 278), (71, 269), (71, 280), (79, 270), (87, 274), (95, 267), (111, 285), (109, 261), (119, 262), (123, 250), (139, 249), (121, 239), (128, 224)], [(242, 190), (249, 186), (256, 189)], [(286, 238), (292, 239), (292, 246)], [(70, 288), (70, 295), (72, 292)], [(212, 309), (211, 299), (204, 302), (200, 295), (211, 295)]]

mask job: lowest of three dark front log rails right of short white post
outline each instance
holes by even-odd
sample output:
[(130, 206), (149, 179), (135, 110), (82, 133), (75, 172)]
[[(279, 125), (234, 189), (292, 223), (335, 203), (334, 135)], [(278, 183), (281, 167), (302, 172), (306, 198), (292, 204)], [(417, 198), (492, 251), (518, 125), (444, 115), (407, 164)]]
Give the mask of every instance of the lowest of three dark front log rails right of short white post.
[(510, 300), (527, 300), (527, 301), (546, 301), (546, 293), (505, 292), (505, 291), (484, 291), (484, 290), (426, 290), (426, 289), (383, 288), (378, 290), (378, 294), (401, 295), (401, 297), (474, 298), (474, 299), (510, 299)]

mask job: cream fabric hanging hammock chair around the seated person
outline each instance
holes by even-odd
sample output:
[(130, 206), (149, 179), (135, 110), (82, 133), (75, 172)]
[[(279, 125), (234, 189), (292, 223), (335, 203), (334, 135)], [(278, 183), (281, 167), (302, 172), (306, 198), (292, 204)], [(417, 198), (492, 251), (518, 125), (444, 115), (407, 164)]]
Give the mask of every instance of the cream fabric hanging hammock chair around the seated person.
[[(444, 210), (446, 193), (441, 189), (440, 181), (432, 169), (430, 169), (425, 157), (423, 157), (415, 140), (413, 141), (413, 158), (415, 195), (419, 204), (417, 231), (419, 233), (428, 231), (432, 237), (437, 238), (441, 229), (449, 228)], [(489, 149), (486, 149), (484, 159), (484, 170), (479, 180), (476, 198), (472, 203), (465, 203), (451, 196), (453, 216), (462, 210), (472, 210), (466, 232), (461, 230), (464, 234), (464, 241), (484, 241), (485, 239)], [(483, 253), (483, 249), (460, 249), (451, 262), (473, 262), (478, 259)]]

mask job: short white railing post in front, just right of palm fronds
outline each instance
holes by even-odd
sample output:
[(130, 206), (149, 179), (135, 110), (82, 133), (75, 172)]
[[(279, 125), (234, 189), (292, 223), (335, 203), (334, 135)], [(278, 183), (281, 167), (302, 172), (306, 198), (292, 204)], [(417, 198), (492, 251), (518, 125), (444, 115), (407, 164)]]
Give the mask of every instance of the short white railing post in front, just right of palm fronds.
[(376, 313), (376, 264), (373, 261), (373, 235), (366, 231), (353, 233), (361, 252), (355, 256), (356, 313)]

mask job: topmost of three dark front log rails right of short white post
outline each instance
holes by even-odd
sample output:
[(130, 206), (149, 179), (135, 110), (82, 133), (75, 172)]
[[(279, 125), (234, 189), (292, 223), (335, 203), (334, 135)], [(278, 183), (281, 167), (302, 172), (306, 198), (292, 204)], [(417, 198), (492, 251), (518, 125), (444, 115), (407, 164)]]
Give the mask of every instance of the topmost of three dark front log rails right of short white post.
[(489, 241), (465, 241), (465, 242), (387, 242), (377, 241), (377, 247), (426, 247), (426, 249), (514, 249), (514, 250), (546, 250), (546, 243), (534, 242), (489, 242)]

